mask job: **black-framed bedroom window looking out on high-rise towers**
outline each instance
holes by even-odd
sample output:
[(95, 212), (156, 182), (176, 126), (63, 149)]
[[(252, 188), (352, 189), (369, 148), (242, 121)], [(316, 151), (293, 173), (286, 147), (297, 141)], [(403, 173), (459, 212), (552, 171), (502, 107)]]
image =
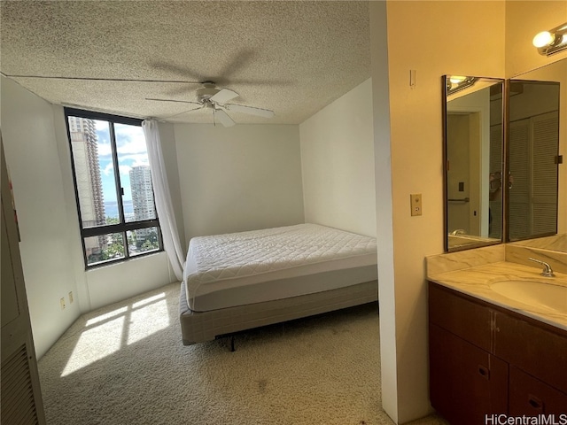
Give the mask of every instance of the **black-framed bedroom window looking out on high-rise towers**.
[(161, 251), (142, 121), (65, 114), (85, 266)]

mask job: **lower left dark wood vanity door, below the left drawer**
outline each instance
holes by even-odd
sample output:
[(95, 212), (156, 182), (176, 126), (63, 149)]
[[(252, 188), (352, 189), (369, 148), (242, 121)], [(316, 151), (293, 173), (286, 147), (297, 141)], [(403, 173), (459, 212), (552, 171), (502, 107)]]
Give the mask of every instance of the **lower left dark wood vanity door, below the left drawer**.
[(508, 364), (430, 323), (431, 406), (454, 425), (508, 412)]

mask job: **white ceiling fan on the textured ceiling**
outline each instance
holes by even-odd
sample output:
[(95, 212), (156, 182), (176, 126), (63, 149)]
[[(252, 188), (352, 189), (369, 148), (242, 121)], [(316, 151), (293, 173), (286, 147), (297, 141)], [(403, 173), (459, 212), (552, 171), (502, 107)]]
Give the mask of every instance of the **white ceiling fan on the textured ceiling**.
[(245, 106), (244, 104), (227, 104), (227, 102), (238, 96), (239, 95), (236, 91), (230, 89), (220, 89), (213, 81), (205, 81), (203, 82), (203, 88), (197, 90), (197, 102), (175, 99), (158, 99), (151, 97), (146, 97), (145, 100), (197, 105), (196, 107), (193, 107), (187, 111), (179, 112), (175, 115), (170, 115), (166, 117), (166, 119), (173, 118), (186, 112), (198, 111), (200, 109), (210, 109), (213, 112), (214, 122), (216, 123), (216, 121), (218, 120), (224, 127), (232, 127), (236, 124), (236, 122), (232, 120), (232, 118), (230, 118), (227, 111), (243, 112), (263, 118), (272, 118), (274, 116), (274, 111), (270, 111), (268, 109)]

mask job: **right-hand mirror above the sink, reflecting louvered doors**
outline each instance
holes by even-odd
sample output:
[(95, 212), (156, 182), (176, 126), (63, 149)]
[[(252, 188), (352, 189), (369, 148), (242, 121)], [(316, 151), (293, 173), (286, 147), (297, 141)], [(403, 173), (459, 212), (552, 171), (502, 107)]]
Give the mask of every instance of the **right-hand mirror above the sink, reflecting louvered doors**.
[(509, 94), (509, 171), (514, 179), (509, 190), (509, 241), (540, 237), (540, 243), (533, 244), (554, 251), (565, 251), (564, 237), (541, 236), (557, 233), (559, 193), (567, 191), (559, 178), (558, 157), (566, 79), (567, 59), (562, 59), (511, 80)]

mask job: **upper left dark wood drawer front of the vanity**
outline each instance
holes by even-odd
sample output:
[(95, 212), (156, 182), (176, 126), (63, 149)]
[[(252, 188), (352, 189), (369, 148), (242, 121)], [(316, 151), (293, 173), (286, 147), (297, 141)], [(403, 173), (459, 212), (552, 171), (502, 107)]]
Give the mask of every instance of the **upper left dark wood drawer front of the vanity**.
[(454, 290), (429, 282), (429, 320), (486, 352), (491, 349), (491, 310)]

